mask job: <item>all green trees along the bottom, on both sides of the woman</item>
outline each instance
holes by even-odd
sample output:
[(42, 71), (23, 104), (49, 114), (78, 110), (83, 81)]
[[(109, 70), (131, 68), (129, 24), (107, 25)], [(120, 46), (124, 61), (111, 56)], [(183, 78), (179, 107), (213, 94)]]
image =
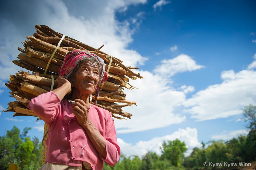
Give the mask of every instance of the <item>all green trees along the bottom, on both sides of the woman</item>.
[[(247, 121), (250, 132), (247, 136), (240, 135), (228, 141), (202, 142), (201, 148), (194, 148), (188, 157), (184, 142), (176, 139), (164, 141), (161, 155), (148, 151), (142, 158), (121, 155), (119, 162), (110, 167), (104, 164), (104, 170), (150, 170), (150, 169), (227, 169), (226, 166), (204, 166), (206, 163), (251, 163), (256, 161), (256, 106), (244, 107), (244, 120)], [(7, 130), (5, 136), (0, 136), (0, 169), (9, 169), (16, 163), (19, 169), (39, 169), (42, 165), (42, 144), (38, 138), (32, 140), (27, 136), (31, 128), (24, 128), (20, 134), (17, 127)], [(253, 166), (253, 165), (252, 165)], [(232, 167), (234, 168), (234, 167)]]

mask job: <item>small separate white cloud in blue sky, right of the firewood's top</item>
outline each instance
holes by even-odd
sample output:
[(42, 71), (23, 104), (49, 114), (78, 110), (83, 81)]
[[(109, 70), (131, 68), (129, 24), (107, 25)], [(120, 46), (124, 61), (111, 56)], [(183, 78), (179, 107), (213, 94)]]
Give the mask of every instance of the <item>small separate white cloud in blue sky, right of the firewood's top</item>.
[(188, 55), (180, 54), (173, 59), (163, 60), (162, 65), (156, 66), (154, 73), (162, 76), (172, 77), (176, 73), (194, 71), (201, 68), (204, 68), (204, 66), (197, 65), (196, 61)]

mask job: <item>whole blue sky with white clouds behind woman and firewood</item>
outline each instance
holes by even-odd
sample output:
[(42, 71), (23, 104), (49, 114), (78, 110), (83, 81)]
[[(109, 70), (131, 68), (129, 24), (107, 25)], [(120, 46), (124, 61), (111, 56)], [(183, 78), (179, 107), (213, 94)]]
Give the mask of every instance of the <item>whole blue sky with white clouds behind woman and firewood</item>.
[[(137, 106), (115, 120), (127, 155), (160, 154), (164, 140), (184, 141), (188, 155), (201, 142), (246, 135), (242, 108), (256, 104), (256, 1), (45, 0), (4, 1), (0, 7), (0, 109), (4, 85), (26, 37), (47, 25), (137, 66), (139, 88), (125, 90)], [(14, 125), (43, 137), (43, 121), (0, 113), (0, 135)]]

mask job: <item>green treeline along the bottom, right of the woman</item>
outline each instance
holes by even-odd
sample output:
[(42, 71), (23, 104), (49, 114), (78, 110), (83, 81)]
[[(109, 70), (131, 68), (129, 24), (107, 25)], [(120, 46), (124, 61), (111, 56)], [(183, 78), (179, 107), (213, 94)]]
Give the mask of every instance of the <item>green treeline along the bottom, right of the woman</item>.
[[(149, 151), (142, 158), (138, 156), (126, 158), (121, 155), (119, 162), (110, 167), (104, 164), (104, 170), (168, 170), (168, 169), (227, 169), (222, 166), (209, 166), (209, 163), (251, 163), (256, 161), (256, 106), (249, 105), (243, 110), (244, 120), (249, 122), (250, 132), (247, 136), (240, 135), (228, 141), (211, 141), (205, 148), (202, 142), (201, 148), (194, 148), (192, 153), (185, 157), (187, 151), (184, 142), (178, 139), (163, 142), (162, 154), (159, 156), (155, 152)], [(207, 166), (204, 166), (204, 163)], [(227, 165), (227, 164), (226, 164)], [(252, 165), (253, 166), (253, 165)], [(230, 167), (234, 168), (234, 167)]]

